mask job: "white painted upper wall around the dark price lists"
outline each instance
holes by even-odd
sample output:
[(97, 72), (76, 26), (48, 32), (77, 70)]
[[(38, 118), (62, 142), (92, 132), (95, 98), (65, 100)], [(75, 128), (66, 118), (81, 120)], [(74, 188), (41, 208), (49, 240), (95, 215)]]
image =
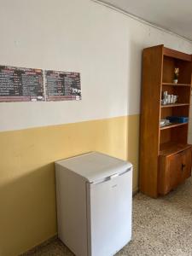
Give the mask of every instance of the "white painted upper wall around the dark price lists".
[(81, 73), (80, 102), (0, 103), (0, 131), (140, 112), (142, 49), (192, 44), (91, 0), (0, 0), (0, 64)]

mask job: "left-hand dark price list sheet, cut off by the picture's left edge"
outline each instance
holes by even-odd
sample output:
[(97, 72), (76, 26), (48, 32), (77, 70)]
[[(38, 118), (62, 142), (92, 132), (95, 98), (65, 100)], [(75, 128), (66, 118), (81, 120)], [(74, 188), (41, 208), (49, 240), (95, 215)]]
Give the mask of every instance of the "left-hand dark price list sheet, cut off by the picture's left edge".
[(0, 102), (44, 101), (42, 69), (0, 66)]

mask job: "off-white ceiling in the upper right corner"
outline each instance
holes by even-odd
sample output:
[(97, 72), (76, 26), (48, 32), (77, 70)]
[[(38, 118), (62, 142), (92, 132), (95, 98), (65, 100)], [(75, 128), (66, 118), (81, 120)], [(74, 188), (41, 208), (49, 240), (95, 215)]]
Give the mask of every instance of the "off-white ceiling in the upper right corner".
[(191, 0), (102, 0), (192, 41)]

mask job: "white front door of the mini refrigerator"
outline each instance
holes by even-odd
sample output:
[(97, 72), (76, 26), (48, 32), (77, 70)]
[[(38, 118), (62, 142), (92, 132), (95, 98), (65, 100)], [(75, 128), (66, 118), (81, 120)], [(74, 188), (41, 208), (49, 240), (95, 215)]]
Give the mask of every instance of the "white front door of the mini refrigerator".
[(88, 183), (87, 192), (88, 255), (113, 255), (131, 240), (132, 168)]

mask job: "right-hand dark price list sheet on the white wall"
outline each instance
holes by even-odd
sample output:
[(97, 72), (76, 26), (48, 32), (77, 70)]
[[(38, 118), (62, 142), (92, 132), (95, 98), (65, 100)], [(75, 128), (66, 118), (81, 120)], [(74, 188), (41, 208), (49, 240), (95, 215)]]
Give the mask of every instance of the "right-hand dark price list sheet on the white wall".
[(81, 100), (80, 73), (46, 70), (47, 101)]

